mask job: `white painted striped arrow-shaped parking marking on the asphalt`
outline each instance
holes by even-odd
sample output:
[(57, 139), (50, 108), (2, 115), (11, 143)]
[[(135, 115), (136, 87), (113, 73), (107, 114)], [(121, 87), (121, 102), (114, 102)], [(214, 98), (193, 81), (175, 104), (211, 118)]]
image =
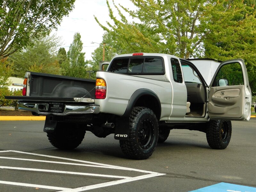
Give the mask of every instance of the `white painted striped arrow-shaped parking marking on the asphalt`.
[[(69, 163), (69, 162), (57, 162), (57, 161), (45, 161), (45, 160), (36, 160), (36, 159), (24, 159), (24, 158), (13, 158), (13, 157), (3, 157), (2, 159), (13, 159), (13, 160), (22, 160), (22, 161), (35, 161), (35, 162), (45, 162), (45, 163), (55, 163), (55, 164), (68, 164), (68, 165), (77, 165), (77, 166), (89, 166), (89, 167), (98, 167), (98, 168), (107, 168), (107, 169), (117, 169), (117, 170), (125, 170), (125, 171), (134, 171), (134, 172), (143, 172), (146, 173), (145, 175), (136, 176), (136, 177), (125, 177), (125, 176), (117, 176), (117, 175), (103, 175), (103, 174), (92, 174), (92, 173), (83, 173), (83, 172), (67, 172), (67, 171), (57, 171), (57, 170), (46, 170), (46, 169), (32, 169), (32, 168), (22, 168), (22, 167), (8, 167), (8, 166), (0, 166), (1, 169), (13, 169), (13, 170), (27, 170), (27, 171), (39, 171), (39, 172), (55, 172), (55, 173), (63, 173), (63, 174), (78, 174), (78, 175), (87, 175), (87, 176), (96, 176), (96, 177), (110, 177), (110, 178), (118, 178), (121, 180), (114, 180), (110, 182), (90, 185), (90, 186), (84, 186), (79, 188), (59, 188), (58, 187), (52, 187), (52, 186), (44, 186), (41, 188), (49, 187), (51, 189), (56, 190), (62, 190), (63, 192), (80, 192), (90, 189), (96, 189), (96, 188), (102, 188), (112, 185), (117, 185), (121, 183), (127, 183), (131, 181), (136, 180), (142, 180), (147, 179), (151, 177), (156, 177), (160, 175), (165, 175), (163, 173), (157, 173), (157, 172), (150, 172), (140, 169), (133, 169), (133, 168), (127, 168), (127, 167), (121, 167), (121, 166), (115, 166), (115, 165), (108, 165), (108, 164), (101, 164), (101, 163), (94, 163), (89, 161), (83, 161), (78, 159), (71, 159), (71, 158), (65, 158), (65, 157), (58, 157), (58, 156), (49, 156), (49, 155), (42, 155), (42, 154), (36, 154), (36, 153), (28, 153), (23, 151), (14, 151), (14, 150), (7, 150), (7, 151), (0, 151), (0, 153), (3, 152), (14, 152), (14, 153), (21, 153), (21, 154), (27, 154), (27, 155), (33, 155), (33, 156), (42, 156), (42, 157), (49, 157), (49, 158), (55, 158), (55, 159), (61, 159), (61, 160), (68, 160), (68, 161), (74, 161), (79, 162), (78, 163)], [(11, 184), (11, 185), (17, 185), (17, 186), (27, 186), (27, 187), (38, 187), (40, 185), (36, 184), (27, 184), (27, 183), (18, 183), (18, 182), (9, 182), (9, 181), (2, 181), (4, 184)]]

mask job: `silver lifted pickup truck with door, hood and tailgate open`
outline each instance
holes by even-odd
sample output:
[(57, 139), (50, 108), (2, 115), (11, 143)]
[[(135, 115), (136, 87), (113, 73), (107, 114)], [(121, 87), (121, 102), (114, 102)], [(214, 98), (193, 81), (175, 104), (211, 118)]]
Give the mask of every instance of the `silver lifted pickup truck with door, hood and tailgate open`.
[(230, 120), (248, 121), (251, 116), (251, 89), (242, 59), (124, 54), (96, 77), (27, 72), (23, 96), (6, 98), (18, 100), (19, 108), (33, 115), (46, 116), (44, 132), (56, 148), (76, 148), (86, 131), (97, 137), (114, 133), (132, 159), (147, 159), (172, 129), (205, 132), (211, 148), (225, 149)]

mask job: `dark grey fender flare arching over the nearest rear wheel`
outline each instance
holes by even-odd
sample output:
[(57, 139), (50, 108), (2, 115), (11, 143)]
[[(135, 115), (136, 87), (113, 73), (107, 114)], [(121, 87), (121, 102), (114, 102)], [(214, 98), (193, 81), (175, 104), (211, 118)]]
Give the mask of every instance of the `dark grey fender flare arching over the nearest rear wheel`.
[(159, 110), (159, 113), (160, 113), (160, 114), (159, 114), (159, 116), (158, 116), (158, 115), (156, 115), (156, 116), (158, 117), (158, 120), (160, 119), (160, 116), (161, 116), (161, 102), (160, 102), (160, 100), (159, 100), (157, 94), (156, 94), (155, 92), (153, 92), (152, 90), (150, 90), (150, 89), (144, 89), (144, 88), (138, 89), (138, 90), (136, 90), (136, 91), (132, 94), (132, 96), (131, 96), (131, 98), (130, 98), (130, 100), (129, 100), (129, 102), (128, 102), (127, 108), (126, 108), (126, 110), (125, 110), (125, 112), (124, 112), (124, 114), (123, 114), (123, 117), (130, 116), (130, 114), (131, 114), (131, 112), (132, 112), (132, 109), (133, 109), (133, 107), (135, 106), (135, 103), (136, 103), (136, 102), (138, 101), (138, 99), (139, 99), (141, 96), (143, 96), (143, 95), (153, 96), (153, 97), (157, 100), (158, 110)]

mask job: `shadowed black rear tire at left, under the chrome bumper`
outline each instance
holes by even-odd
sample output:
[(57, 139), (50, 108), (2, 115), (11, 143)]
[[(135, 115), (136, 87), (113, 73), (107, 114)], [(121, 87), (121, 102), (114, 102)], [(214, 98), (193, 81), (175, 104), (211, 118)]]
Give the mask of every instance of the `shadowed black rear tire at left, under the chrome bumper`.
[(84, 139), (85, 130), (76, 124), (57, 123), (55, 132), (48, 132), (50, 143), (59, 149), (77, 148)]

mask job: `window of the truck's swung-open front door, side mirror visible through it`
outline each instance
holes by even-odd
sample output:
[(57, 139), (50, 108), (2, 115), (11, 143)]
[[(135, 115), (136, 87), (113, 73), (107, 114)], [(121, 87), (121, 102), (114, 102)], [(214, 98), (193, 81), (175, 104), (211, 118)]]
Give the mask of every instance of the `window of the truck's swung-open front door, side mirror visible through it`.
[(239, 63), (223, 65), (214, 80), (214, 86), (243, 85), (244, 78)]

